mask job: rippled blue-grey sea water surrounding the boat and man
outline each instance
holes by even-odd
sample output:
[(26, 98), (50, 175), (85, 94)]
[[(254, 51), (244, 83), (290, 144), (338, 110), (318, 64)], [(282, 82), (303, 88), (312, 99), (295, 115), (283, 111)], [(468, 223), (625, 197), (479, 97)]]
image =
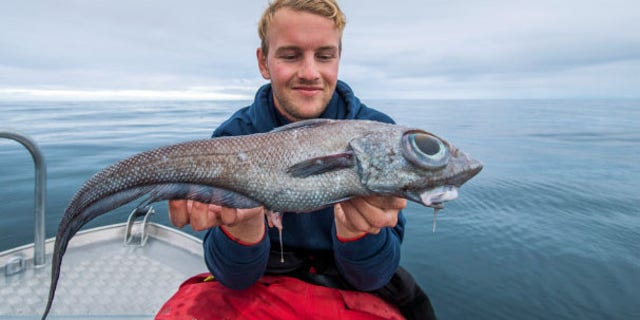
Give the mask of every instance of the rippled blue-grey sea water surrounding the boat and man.
[[(401, 264), (441, 319), (640, 319), (639, 100), (366, 102), (485, 164), (435, 233), (430, 209), (405, 210)], [(208, 137), (247, 103), (0, 102), (0, 127), (30, 135), (44, 153), (51, 237), (96, 171)], [(90, 226), (123, 222), (131, 208)], [(166, 204), (156, 209), (154, 220), (169, 224)], [(32, 160), (0, 141), (0, 251), (33, 241), (33, 210)]]

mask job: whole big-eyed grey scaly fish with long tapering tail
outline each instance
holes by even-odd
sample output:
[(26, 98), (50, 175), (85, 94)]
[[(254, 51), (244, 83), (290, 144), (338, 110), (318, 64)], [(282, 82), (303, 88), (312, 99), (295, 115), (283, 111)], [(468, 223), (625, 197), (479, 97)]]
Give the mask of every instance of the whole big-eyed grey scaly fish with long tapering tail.
[[(305, 213), (361, 196), (396, 196), (435, 210), (482, 170), (446, 140), (370, 120), (312, 119), (267, 133), (188, 141), (135, 154), (87, 180), (56, 234), (45, 319), (69, 240), (87, 222), (142, 198), (190, 199)], [(143, 198), (144, 197), (144, 198)]]

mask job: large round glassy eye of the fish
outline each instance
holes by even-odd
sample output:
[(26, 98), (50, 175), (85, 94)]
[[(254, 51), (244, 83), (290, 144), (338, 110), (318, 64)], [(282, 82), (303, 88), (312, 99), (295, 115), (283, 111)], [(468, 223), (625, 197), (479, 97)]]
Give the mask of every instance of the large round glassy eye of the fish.
[(449, 149), (435, 136), (425, 132), (408, 132), (402, 136), (404, 157), (424, 169), (438, 169), (449, 162)]

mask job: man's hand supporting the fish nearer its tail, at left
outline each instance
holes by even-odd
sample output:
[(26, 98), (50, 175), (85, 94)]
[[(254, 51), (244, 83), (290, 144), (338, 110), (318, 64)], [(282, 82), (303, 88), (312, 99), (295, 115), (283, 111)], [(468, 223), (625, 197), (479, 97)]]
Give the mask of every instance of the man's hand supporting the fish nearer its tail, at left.
[(244, 243), (257, 243), (264, 237), (263, 207), (235, 209), (193, 200), (170, 200), (169, 219), (182, 228), (191, 224), (196, 231), (224, 226), (227, 233)]

